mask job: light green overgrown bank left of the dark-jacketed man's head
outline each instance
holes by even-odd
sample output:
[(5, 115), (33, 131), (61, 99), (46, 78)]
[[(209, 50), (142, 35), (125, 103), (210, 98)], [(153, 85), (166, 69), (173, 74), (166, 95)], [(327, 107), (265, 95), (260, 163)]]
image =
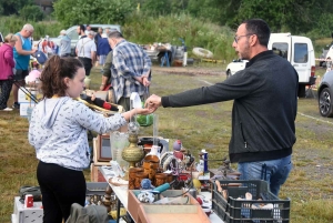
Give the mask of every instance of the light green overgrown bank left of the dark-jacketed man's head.
[(215, 59), (231, 61), (235, 58), (231, 45), (234, 34), (232, 30), (185, 13), (158, 18), (132, 13), (127, 18), (122, 31), (127, 39), (141, 44), (169, 42), (180, 45), (179, 38), (182, 38), (185, 40), (190, 57), (192, 57), (192, 48), (201, 47), (212, 51)]

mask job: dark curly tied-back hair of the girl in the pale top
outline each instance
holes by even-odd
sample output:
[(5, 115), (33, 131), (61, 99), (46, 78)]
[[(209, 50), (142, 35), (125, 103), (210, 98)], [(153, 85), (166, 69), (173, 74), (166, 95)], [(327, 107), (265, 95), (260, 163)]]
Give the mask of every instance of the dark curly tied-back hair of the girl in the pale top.
[(73, 79), (79, 68), (83, 68), (83, 64), (75, 58), (52, 55), (47, 61), (40, 77), (43, 98), (50, 99), (56, 94), (58, 97), (64, 97), (68, 87), (63, 79)]

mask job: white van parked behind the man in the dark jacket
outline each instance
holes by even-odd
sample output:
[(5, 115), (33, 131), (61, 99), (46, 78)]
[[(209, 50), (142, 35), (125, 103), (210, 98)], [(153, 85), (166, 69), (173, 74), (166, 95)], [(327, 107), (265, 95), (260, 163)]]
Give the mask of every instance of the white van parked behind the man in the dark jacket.
[[(314, 77), (314, 49), (311, 39), (291, 36), (291, 33), (272, 33), (269, 49), (282, 58), (285, 58), (295, 68), (299, 73), (299, 97), (305, 97), (305, 87), (314, 84), (316, 79), (316, 77)], [(331, 58), (333, 58), (333, 55)], [(244, 69), (241, 65), (239, 68), (239, 70)]]

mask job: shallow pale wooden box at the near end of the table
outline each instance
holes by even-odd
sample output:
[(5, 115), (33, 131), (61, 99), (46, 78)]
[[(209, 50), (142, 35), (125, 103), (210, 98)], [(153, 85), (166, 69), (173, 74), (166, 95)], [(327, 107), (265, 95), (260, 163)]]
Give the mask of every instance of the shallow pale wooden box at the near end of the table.
[[(175, 210), (180, 210), (179, 214), (176, 214), (176, 217), (182, 217), (180, 215), (184, 214), (191, 216), (191, 217), (196, 217), (199, 219), (199, 222), (210, 222), (208, 219), (206, 214), (202, 211), (200, 204), (198, 201), (189, 195), (189, 201), (188, 197), (182, 197), (181, 203), (173, 203), (173, 204), (150, 204), (150, 203), (141, 203), (138, 199), (135, 193), (140, 193), (140, 190), (129, 190), (129, 197), (128, 197), (128, 211), (130, 212), (132, 219), (135, 222), (150, 222), (149, 219), (152, 216), (154, 217), (154, 213), (158, 213), (163, 215), (172, 215), (173, 212), (178, 213)], [(174, 197), (176, 195), (181, 195), (183, 193), (182, 190), (168, 190), (164, 191), (163, 193), (160, 194), (160, 199), (163, 197)], [(149, 207), (147, 207), (149, 206)], [(170, 207), (173, 206), (173, 207)], [(179, 209), (182, 206), (181, 209)], [(160, 210), (160, 211), (153, 211), (153, 210)], [(195, 212), (195, 215), (194, 215)], [(141, 213), (141, 216), (140, 216)], [(152, 215), (151, 215), (152, 214)], [(148, 216), (149, 215), (149, 216)], [(203, 215), (203, 216), (201, 216)], [(205, 216), (205, 219), (204, 219)], [(161, 217), (161, 216), (159, 216)], [(139, 221), (140, 220), (140, 221)], [(161, 219), (160, 219), (161, 220)], [(175, 219), (176, 220), (176, 219)], [(206, 221), (205, 221), (206, 220)], [(151, 222), (160, 222), (160, 221), (151, 221)], [(176, 221), (174, 221), (176, 222)], [(194, 223), (193, 220), (191, 223)]]

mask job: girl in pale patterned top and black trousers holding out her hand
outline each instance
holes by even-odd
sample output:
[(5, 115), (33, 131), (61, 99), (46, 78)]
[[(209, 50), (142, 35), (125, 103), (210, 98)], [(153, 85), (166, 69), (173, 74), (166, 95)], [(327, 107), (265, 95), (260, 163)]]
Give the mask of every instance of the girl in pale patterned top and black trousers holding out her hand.
[(41, 73), (43, 99), (33, 108), (29, 143), (34, 146), (39, 164), (37, 180), (42, 193), (43, 222), (61, 223), (73, 203), (84, 206), (85, 179), (90, 165), (87, 130), (103, 134), (125, 125), (134, 109), (104, 118), (83, 102), (74, 100), (84, 89), (84, 67), (75, 58), (51, 57)]

